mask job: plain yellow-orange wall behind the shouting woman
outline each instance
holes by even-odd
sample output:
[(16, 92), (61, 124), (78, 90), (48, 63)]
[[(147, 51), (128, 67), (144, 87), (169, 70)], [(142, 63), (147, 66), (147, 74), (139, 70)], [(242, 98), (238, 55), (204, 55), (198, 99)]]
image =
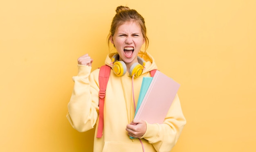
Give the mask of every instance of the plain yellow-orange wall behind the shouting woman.
[(181, 84), (173, 152), (256, 151), (255, 0), (0, 2), (0, 151), (92, 151), (65, 117), (77, 58), (104, 64), (119, 5), (146, 20), (148, 52)]

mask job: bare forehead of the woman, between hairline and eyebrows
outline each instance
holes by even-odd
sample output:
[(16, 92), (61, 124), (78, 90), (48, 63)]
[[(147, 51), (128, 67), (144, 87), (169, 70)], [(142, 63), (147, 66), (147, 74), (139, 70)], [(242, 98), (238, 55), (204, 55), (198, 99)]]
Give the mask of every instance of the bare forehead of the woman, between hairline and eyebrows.
[(117, 32), (141, 33), (141, 27), (137, 22), (124, 22), (116, 29)]

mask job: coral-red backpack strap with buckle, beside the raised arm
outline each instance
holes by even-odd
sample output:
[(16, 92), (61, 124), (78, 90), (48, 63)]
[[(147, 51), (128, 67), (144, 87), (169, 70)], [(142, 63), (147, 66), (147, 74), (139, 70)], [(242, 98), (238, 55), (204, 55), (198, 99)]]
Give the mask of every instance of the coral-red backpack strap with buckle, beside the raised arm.
[(106, 95), (106, 88), (108, 84), (108, 78), (110, 75), (110, 69), (111, 68), (108, 65), (103, 65), (99, 70), (99, 125), (97, 138), (101, 138), (103, 132), (104, 99)]

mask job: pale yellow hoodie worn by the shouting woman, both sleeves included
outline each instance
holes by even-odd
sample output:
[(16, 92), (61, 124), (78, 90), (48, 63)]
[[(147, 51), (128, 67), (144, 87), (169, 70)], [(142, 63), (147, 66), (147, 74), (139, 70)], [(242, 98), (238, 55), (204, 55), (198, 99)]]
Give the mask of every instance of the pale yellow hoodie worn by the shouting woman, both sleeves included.
[[(105, 64), (110, 67), (113, 55), (108, 54), (105, 60)], [(150, 54), (139, 52), (138, 56), (146, 61), (146, 68), (133, 81), (136, 104), (142, 78), (150, 76), (150, 71), (157, 69)], [(73, 77), (73, 81), (74, 89), (68, 103), (67, 119), (74, 129), (85, 132), (98, 122), (99, 69), (91, 72), (91, 67), (78, 65), (78, 75)], [(128, 72), (124, 76), (116, 76), (111, 70), (104, 104), (103, 136), (96, 138), (96, 125), (94, 152), (142, 152), (139, 139), (130, 139), (126, 131), (126, 125), (133, 120), (134, 115), (132, 76)], [(163, 124), (146, 123), (146, 133), (141, 137), (145, 152), (170, 152), (185, 124), (186, 119), (176, 95)]]

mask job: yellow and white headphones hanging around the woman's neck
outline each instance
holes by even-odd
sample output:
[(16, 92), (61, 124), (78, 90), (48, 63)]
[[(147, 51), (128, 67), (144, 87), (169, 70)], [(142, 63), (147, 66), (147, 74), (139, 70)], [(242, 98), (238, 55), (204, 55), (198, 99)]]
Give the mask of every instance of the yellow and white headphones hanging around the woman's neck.
[[(113, 63), (112, 69), (117, 76), (123, 76), (127, 71), (126, 64), (124, 63), (124, 61), (119, 61), (118, 59), (119, 59), (119, 54), (115, 54), (112, 57), (112, 63)], [(139, 63), (133, 63), (133, 65), (130, 67), (130, 70), (129, 70), (129, 74), (131, 76), (134, 75), (135, 78), (139, 77), (142, 74), (145, 66), (145, 61), (139, 56), (138, 56), (138, 62)]]

